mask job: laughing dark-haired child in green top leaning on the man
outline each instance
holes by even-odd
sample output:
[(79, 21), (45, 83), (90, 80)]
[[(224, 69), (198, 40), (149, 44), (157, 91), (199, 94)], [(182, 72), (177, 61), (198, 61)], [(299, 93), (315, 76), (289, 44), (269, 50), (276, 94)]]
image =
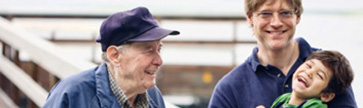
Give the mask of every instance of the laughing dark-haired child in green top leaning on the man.
[(335, 94), (353, 80), (348, 60), (336, 51), (317, 51), (295, 71), (292, 93), (278, 97), (271, 108), (327, 108)]

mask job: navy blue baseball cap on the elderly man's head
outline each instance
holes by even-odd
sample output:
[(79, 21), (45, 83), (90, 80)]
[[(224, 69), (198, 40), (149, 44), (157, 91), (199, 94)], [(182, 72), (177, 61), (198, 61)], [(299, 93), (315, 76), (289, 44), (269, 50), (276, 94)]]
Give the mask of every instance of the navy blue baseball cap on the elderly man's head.
[(178, 34), (179, 31), (159, 27), (147, 8), (137, 7), (109, 16), (103, 21), (96, 41), (101, 43), (102, 51), (106, 51), (110, 45), (156, 41)]

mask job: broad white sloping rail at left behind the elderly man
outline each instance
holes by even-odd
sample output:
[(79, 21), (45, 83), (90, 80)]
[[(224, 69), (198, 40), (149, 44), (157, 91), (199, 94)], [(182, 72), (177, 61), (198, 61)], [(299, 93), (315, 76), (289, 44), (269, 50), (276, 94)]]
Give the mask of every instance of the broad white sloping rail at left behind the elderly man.
[(89, 61), (62, 56), (60, 48), (53, 43), (17, 28), (3, 18), (0, 18), (0, 40), (19, 51), (26, 52), (31, 61), (58, 78), (65, 78), (95, 66)]

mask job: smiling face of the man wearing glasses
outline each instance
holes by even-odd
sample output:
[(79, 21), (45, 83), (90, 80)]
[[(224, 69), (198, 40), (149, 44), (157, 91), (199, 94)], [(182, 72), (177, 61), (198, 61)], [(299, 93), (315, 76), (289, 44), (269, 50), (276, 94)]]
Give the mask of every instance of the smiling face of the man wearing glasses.
[(300, 16), (286, 0), (268, 0), (248, 15), (257, 41), (266, 49), (279, 50), (293, 44), (293, 36)]

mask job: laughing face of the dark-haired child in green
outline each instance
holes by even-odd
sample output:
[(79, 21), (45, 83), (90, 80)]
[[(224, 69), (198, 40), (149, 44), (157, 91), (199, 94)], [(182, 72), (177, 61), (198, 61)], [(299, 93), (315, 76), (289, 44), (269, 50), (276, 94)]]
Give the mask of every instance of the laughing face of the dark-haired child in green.
[(317, 59), (304, 62), (294, 73), (292, 89), (300, 98), (320, 97), (332, 77), (332, 72)]

